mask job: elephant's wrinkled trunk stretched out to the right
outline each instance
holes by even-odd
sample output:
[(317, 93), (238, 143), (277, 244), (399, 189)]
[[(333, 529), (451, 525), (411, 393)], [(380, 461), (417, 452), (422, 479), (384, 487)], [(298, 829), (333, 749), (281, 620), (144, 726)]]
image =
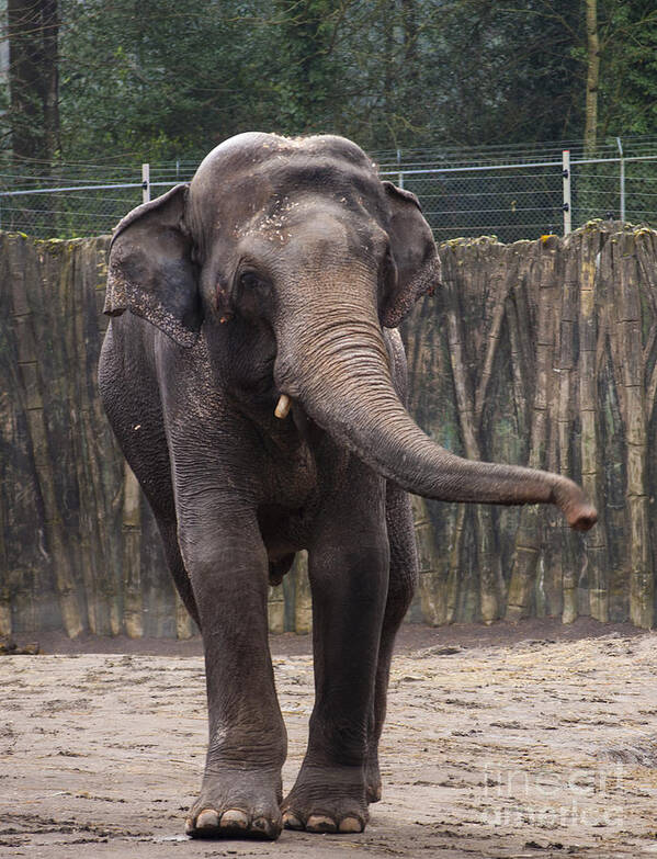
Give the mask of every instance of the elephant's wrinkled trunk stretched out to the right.
[(276, 381), (308, 415), (377, 473), (441, 501), (555, 504), (568, 524), (588, 530), (597, 513), (566, 477), (533, 468), (464, 460), (415, 423), (395, 391), (376, 313), (347, 302), (306, 320), (283, 342)]

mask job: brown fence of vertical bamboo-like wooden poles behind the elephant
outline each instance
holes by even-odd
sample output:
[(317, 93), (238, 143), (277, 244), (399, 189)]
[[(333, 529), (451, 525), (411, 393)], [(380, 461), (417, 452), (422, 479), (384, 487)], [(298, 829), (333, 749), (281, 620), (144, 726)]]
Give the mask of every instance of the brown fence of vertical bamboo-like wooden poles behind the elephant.
[[(0, 635), (181, 636), (192, 624), (103, 416), (107, 239), (0, 234)], [(582, 538), (552, 508), (415, 499), (432, 624), (655, 618), (657, 234), (596, 222), (566, 239), (440, 249), (444, 286), (404, 326), (410, 408), (469, 457), (581, 481)], [(272, 589), (272, 631), (307, 631), (305, 558)]]

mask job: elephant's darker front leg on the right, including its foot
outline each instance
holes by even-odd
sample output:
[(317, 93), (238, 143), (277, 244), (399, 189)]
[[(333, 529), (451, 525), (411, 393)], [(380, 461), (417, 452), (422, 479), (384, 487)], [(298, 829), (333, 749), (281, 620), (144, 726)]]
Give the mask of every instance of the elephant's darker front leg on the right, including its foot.
[(358, 833), (367, 821), (369, 732), (388, 549), (383, 510), (374, 522), (350, 512), (349, 528), (328, 529), (309, 552), (315, 708), (306, 756), (283, 803), (291, 829)]

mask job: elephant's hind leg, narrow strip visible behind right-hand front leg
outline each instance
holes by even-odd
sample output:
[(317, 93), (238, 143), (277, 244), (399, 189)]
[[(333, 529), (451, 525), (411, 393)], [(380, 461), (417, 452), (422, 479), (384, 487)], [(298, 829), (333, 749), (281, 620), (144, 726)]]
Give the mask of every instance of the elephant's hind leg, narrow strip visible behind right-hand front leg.
[(378, 802), (381, 800), (378, 741), (386, 715), (390, 662), (395, 646), (395, 636), (408, 611), (418, 580), (418, 561), (410, 497), (408, 493), (393, 483), (388, 483), (386, 489), (386, 524), (390, 543), (390, 573), (378, 647), (374, 712), (369, 736), (366, 764), (367, 802)]

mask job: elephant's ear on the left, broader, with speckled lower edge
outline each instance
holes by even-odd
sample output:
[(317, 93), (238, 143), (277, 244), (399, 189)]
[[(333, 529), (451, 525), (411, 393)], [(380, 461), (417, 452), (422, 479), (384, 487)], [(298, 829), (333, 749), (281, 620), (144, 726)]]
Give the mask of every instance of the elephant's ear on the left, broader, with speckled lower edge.
[(134, 208), (110, 245), (104, 312), (131, 310), (180, 346), (193, 346), (202, 323), (192, 240), (183, 221), (188, 185)]

